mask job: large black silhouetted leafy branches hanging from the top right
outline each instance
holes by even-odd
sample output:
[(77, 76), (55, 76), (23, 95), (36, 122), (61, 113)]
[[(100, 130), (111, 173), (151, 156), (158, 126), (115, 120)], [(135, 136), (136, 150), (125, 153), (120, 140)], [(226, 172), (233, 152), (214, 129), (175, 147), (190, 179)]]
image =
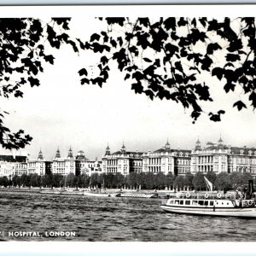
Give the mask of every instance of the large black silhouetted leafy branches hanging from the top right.
[[(256, 107), (255, 20), (254, 18), (100, 18), (106, 29), (81, 42), (82, 49), (96, 53), (94, 69), (82, 68), (81, 84), (108, 81), (111, 62), (115, 62), (131, 90), (154, 98), (181, 103), (192, 110), (193, 123), (204, 109), (201, 102), (212, 102), (210, 88), (224, 82), (224, 92), (237, 87)], [(217, 78), (212, 84), (206, 74)], [(239, 86), (238, 86), (239, 85)], [(238, 96), (240, 97), (240, 95)], [(240, 99), (239, 111), (247, 108)], [(208, 113), (214, 122), (225, 111)]]

